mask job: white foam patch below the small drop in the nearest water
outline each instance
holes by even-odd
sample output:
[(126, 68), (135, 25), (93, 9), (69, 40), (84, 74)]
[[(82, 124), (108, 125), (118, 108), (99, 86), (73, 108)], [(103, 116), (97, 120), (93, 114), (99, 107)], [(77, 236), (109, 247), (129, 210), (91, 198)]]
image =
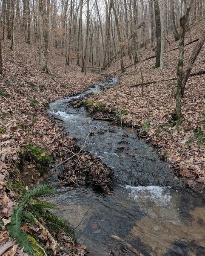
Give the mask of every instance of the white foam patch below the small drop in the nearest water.
[(138, 204), (143, 204), (144, 201), (150, 201), (150, 203), (157, 206), (168, 206), (172, 196), (165, 187), (160, 186), (130, 186), (125, 188), (128, 190), (129, 195), (134, 198)]

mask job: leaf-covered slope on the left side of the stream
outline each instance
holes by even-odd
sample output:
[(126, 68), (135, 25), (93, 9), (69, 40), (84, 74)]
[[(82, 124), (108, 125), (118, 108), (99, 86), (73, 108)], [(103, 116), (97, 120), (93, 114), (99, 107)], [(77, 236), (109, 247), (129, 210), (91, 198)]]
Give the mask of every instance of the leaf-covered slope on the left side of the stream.
[[(97, 75), (80, 73), (80, 67), (74, 64), (67, 67), (65, 74), (65, 58), (51, 52), (48, 56), (50, 73), (42, 73), (38, 64), (37, 47), (23, 43), (20, 37), (16, 38), (14, 63), (14, 52), (9, 47), (9, 40), (2, 41), (0, 219), (4, 218), (5, 225), (11, 215), (12, 207), (16, 204), (13, 193), (6, 190), (8, 179), (27, 184), (37, 183), (42, 172), (48, 170), (48, 154), (53, 158), (59, 157), (64, 160), (71, 154), (70, 150), (76, 150), (75, 141), (65, 137), (65, 132), (54, 125), (47, 114), (46, 103), (85, 90), (88, 85), (99, 80)], [(57, 49), (53, 49), (52, 52), (57, 52)], [(52, 78), (60, 82), (56, 83)], [(38, 146), (37, 150), (33, 146)], [(35, 160), (30, 161), (33, 155)], [(45, 168), (42, 168), (43, 165)], [(42, 229), (39, 230), (40, 233), (41, 231)], [(8, 232), (6, 230), (0, 232), (0, 242), (4, 244), (8, 240)], [(45, 240), (46, 237), (44, 241), (49, 245), (48, 238)], [(86, 251), (84, 249), (79, 246), (74, 250), (81, 251), (84, 255), (83, 252)], [(17, 252), (23, 255), (20, 250)]]

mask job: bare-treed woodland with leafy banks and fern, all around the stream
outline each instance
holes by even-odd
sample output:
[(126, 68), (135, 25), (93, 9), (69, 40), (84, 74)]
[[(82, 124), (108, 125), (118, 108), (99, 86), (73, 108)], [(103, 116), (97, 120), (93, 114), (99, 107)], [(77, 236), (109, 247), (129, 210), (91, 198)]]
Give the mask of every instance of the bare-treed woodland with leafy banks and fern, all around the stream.
[[(115, 87), (73, 106), (133, 128), (204, 195), (204, 43), (205, 0), (0, 1), (0, 256), (91, 255), (38, 197), (57, 193), (43, 182), (62, 165), (67, 185), (111, 193), (112, 169), (48, 113), (111, 77)], [(111, 255), (144, 255), (122, 242), (134, 254)]]

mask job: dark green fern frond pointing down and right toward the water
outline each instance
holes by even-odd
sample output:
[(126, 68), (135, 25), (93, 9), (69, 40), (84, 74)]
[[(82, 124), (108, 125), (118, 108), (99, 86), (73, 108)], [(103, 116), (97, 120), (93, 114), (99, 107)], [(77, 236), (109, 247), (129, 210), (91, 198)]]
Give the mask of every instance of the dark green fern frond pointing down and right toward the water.
[(77, 244), (77, 239), (75, 237), (75, 232), (72, 227), (70, 227), (70, 224), (63, 220), (60, 217), (57, 217), (54, 213), (52, 212), (45, 212), (45, 214), (42, 216), (44, 220), (46, 220), (48, 224), (48, 230), (53, 230), (57, 234), (60, 231), (63, 231), (63, 234), (68, 236), (71, 241), (74, 242), (74, 244)]

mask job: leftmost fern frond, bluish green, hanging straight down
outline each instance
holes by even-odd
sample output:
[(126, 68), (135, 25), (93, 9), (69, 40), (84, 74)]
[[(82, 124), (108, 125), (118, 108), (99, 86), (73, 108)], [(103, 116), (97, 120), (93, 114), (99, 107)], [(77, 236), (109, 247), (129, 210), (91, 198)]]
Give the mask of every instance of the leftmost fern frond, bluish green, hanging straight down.
[(20, 233), (21, 220), (22, 220), (23, 206), (16, 205), (13, 208), (11, 214), (11, 223), (9, 224), (8, 230), (10, 235), (16, 239)]

